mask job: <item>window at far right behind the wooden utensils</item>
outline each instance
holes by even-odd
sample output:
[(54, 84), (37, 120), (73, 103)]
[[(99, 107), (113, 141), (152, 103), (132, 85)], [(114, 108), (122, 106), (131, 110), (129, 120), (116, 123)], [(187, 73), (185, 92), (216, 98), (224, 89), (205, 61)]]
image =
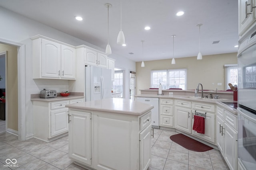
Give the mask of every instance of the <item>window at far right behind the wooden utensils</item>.
[(226, 90), (230, 89), (228, 83), (231, 83), (233, 86), (238, 83), (238, 69), (237, 64), (225, 64), (226, 70)]

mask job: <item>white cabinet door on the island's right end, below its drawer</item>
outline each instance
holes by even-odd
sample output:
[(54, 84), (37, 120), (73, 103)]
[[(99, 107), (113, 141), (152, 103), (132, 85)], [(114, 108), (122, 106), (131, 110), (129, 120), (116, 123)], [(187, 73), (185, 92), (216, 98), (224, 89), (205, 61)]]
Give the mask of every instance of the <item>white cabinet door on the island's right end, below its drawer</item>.
[(140, 170), (147, 170), (151, 158), (151, 124), (140, 133)]

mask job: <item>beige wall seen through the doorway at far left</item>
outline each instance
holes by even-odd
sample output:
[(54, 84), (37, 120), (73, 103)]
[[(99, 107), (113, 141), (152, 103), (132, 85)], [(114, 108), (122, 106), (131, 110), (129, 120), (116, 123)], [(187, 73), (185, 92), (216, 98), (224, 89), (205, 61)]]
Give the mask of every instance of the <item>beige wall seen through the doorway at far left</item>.
[(7, 51), (7, 125), (9, 129), (18, 131), (18, 65), (17, 65), (17, 47), (0, 44), (0, 52)]

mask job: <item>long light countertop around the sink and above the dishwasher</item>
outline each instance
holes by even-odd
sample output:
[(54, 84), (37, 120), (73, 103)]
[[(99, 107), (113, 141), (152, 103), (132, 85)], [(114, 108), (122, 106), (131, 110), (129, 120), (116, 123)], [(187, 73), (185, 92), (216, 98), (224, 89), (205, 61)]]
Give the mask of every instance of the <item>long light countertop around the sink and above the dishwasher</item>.
[(184, 95), (157, 95), (157, 94), (138, 94), (138, 95), (134, 95), (134, 97), (173, 98), (173, 99), (180, 99), (180, 100), (190, 100), (190, 101), (194, 101), (194, 102), (214, 103), (214, 104), (217, 104), (218, 106), (224, 107), (225, 109), (227, 109), (228, 111), (230, 111), (234, 115), (237, 115), (237, 110), (236, 109), (222, 103), (222, 102), (235, 102), (235, 103), (237, 103), (237, 101), (234, 101), (234, 100), (228, 100), (228, 99), (217, 99), (217, 100), (216, 99), (200, 99), (200, 97), (199, 98), (193, 98), (193, 96), (191, 96), (191, 98), (189, 98), (190, 96), (184, 96)]

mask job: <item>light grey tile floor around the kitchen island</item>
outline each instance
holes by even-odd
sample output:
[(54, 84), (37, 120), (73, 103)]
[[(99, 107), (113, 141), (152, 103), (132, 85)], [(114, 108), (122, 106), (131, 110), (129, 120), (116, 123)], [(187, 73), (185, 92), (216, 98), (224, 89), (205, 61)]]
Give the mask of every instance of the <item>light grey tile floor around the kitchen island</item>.
[[(194, 152), (170, 140), (176, 132), (154, 129), (152, 160), (148, 170), (228, 170), (218, 150)], [(17, 160), (6, 166), (6, 159)], [(11, 165), (11, 164), (10, 164)], [(0, 170), (86, 170), (68, 158), (68, 136), (49, 143), (38, 139), (18, 141), (10, 133), (0, 133)]]

